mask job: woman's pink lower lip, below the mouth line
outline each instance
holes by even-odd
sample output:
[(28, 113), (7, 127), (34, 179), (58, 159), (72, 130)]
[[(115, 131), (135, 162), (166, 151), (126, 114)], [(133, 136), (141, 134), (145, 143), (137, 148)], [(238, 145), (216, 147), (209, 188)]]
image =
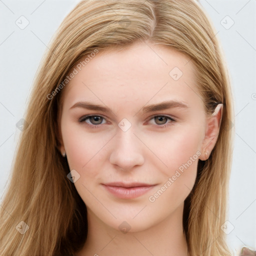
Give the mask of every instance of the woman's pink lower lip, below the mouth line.
[(136, 198), (140, 195), (145, 194), (148, 190), (150, 190), (152, 186), (135, 186), (135, 187), (122, 187), (122, 186), (103, 186), (113, 195), (122, 199), (131, 199)]

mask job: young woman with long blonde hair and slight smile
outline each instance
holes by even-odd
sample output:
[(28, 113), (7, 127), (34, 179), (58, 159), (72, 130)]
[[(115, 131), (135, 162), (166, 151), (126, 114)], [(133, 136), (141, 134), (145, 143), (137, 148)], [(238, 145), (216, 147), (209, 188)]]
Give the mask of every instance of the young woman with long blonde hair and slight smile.
[(231, 255), (231, 89), (196, 1), (78, 3), (25, 120), (1, 255)]

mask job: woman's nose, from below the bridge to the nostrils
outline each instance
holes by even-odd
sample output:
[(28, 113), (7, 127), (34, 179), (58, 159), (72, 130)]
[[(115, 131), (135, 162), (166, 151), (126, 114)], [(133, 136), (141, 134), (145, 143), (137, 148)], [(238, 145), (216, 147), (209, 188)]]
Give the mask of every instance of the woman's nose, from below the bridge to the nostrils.
[(111, 149), (109, 161), (120, 169), (130, 170), (144, 163), (142, 144), (131, 128), (127, 131), (117, 131)]

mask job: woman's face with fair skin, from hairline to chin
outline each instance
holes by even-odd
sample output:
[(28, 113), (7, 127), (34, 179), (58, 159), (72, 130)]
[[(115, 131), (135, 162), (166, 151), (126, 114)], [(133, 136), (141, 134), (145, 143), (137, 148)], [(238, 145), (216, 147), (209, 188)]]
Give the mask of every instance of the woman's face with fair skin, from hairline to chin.
[(74, 186), (88, 216), (147, 229), (183, 206), (204, 153), (207, 116), (192, 61), (135, 43), (75, 68), (60, 121)]

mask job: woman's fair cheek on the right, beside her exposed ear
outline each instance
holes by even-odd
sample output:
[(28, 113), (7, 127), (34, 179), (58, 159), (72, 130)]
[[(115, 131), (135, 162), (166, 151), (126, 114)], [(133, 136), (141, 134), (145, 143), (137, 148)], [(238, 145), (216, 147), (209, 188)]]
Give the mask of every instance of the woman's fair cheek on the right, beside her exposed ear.
[(163, 167), (160, 168), (164, 178), (162, 180), (163, 186), (158, 194), (164, 191), (165, 196), (162, 196), (162, 199), (168, 198), (172, 202), (180, 202), (192, 189), (201, 154), (198, 150), (200, 148), (201, 129), (198, 127), (197, 125), (189, 125), (180, 127), (180, 129), (173, 129), (168, 134), (168, 139), (166, 136), (159, 135), (158, 139), (154, 140), (157, 141), (154, 144), (154, 148), (157, 150), (155, 152), (165, 164), (165, 167), (162, 165)]

